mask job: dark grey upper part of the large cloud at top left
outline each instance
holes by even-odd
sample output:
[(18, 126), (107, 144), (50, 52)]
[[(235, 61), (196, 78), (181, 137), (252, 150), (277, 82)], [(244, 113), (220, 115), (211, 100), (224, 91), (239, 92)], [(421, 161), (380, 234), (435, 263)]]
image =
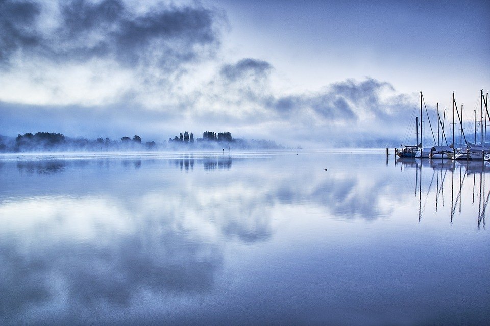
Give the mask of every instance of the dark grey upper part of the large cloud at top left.
[(223, 17), (201, 6), (159, 5), (139, 14), (120, 0), (56, 4), (59, 26), (48, 31), (39, 21), (46, 10), (39, 3), (0, 2), (1, 62), (22, 52), (55, 62), (103, 58), (175, 70), (219, 45), (217, 21)]

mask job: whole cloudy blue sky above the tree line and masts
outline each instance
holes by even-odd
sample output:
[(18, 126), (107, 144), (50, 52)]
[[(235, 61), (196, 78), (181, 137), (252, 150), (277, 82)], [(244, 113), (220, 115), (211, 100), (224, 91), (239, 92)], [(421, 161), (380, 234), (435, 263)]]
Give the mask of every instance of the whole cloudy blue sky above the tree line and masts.
[(489, 14), (487, 1), (0, 1), (0, 135), (406, 142), (421, 91), (433, 124), (454, 91), (473, 125)]

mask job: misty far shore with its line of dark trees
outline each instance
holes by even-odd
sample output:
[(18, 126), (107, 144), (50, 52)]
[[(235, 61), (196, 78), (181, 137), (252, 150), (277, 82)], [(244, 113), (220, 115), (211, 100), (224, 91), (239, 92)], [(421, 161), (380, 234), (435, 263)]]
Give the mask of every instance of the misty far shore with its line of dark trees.
[(120, 140), (109, 137), (87, 139), (83, 137), (69, 138), (60, 133), (37, 132), (35, 134), (19, 134), (16, 138), (0, 137), (0, 152), (55, 152), (55, 151), (162, 151), (179, 149), (283, 149), (270, 140), (234, 139), (230, 132), (215, 133), (206, 131), (202, 138), (194, 139), (188, 131), (168, 141), (143, 141), (139, 135), (123, 136)]

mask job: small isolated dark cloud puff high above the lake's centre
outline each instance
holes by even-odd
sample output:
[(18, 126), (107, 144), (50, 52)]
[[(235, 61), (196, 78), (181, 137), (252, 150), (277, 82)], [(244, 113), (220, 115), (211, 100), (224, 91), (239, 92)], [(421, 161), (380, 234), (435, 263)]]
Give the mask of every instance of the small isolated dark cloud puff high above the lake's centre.
[(220, 74), (226, 80), (235, 82), (244, 78), (261, 79), (268, 76), (272, 70), (272, 65), (266, 61), (245, 58), (235, 64), (224, 65)]

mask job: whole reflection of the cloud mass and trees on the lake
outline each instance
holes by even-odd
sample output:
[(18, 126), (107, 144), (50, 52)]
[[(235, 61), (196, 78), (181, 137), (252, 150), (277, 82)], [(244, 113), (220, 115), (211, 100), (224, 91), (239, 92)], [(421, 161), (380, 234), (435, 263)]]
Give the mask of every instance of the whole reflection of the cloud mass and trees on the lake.
[(278, 170), (274, 157), (250, 160), (5, 162), (0, 321), (89, 323), (134, 317), (149, 305), (164, 314), (226, 287), (229, 245), (273, 241), (287, 222), (275, 212), (314, 207), (373, 220), (393, 214), (387, 200), (412, 196), (383, 170), (292, 172), (295, 165)]

